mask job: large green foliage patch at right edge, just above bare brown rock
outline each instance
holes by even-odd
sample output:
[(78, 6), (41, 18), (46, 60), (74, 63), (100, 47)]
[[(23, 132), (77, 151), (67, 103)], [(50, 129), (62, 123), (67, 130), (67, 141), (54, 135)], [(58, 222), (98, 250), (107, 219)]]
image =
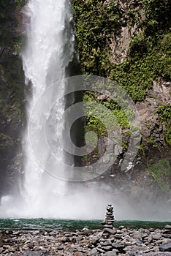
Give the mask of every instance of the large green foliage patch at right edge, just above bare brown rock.
[(126, 61), (115, 65), (110, 78), (123, 86), (134, 102), (144, 100), (146, 89), (153, 88), (153, 80), (171, 79), (170, 44), (170, 33), (156, 39), (137, 34), (130, 42)]

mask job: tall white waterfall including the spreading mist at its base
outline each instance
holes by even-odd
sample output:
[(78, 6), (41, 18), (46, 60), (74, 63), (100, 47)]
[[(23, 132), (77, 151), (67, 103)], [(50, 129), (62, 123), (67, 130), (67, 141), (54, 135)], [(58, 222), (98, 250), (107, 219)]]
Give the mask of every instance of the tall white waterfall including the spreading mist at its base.
[[(64, 78), (72, 73), (69, 68), (75, 69), (71, 2), (28, 0), (24, 12), (26, 41), (21, 56), (26, 78), (27, 124), (22, 136), (23, 183), (19, 197), (7, 195), (1, 198), (0, 217), (100, 219), (109, 200), (103, 191), (99, 192), (96, 182), (79, 184), (67, 181), (67, 174), (73, 174), (74, 163), (70, 161), (72, 156), (60, 147), (67, 126), (67, 116), (66, 119), (62, 116), (65, 116), (65, 109), (75, 102), (73, 94), (62, 98), (69, 88)], [(53, 83), (56, 86), (51, 86)], [(56, 95), (59, 100), (47, 113), (46, 107), (54, 102)], [(43, 132), (46, 132), (49, 149), (43, 141)], [(35, 151), (39, 153), (41, 165)], [(58, 159), (58, 166), (53, 165), (51, 153)], [(60, 162), (69, 163), (71, 173), (67, 173)], [(66, 181), (58, 179), (56, 170)]]

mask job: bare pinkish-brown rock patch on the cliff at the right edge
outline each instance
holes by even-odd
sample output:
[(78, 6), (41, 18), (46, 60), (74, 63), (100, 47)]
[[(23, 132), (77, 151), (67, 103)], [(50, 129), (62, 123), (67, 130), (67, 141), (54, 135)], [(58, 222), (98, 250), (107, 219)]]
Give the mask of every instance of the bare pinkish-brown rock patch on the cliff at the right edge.
[(153, 138), (153, 145), (159, 148), (164, 147), (164, 150), (167, 148), (164, 140), (167, 128), (160, 120), (157, 110), (160, 105), (167, 105), (171, 102), (170, 87), (170, 82), (153, 81), (153, 89), (147, 90), (145, 101), (136, 103), (142, 124), (143, 139)]

